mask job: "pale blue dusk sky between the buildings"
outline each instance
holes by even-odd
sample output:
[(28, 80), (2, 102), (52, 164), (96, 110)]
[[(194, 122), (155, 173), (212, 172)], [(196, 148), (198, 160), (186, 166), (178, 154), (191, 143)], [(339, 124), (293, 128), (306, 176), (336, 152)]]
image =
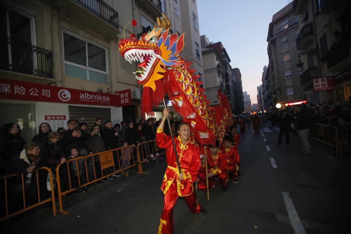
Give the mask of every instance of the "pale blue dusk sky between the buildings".
[[(291, 0), (292, 1), (292, 0)], [(285, 7), (287, 0), (197, 0), (200, 35), (221, 41), (232, 68), (239, 68), (243, 92), (257, 103), (257, 86), (263, 67), (268, 65), (267, 33), (273, 14)], [(204, 68), (205, 69), (205, 68)]]

